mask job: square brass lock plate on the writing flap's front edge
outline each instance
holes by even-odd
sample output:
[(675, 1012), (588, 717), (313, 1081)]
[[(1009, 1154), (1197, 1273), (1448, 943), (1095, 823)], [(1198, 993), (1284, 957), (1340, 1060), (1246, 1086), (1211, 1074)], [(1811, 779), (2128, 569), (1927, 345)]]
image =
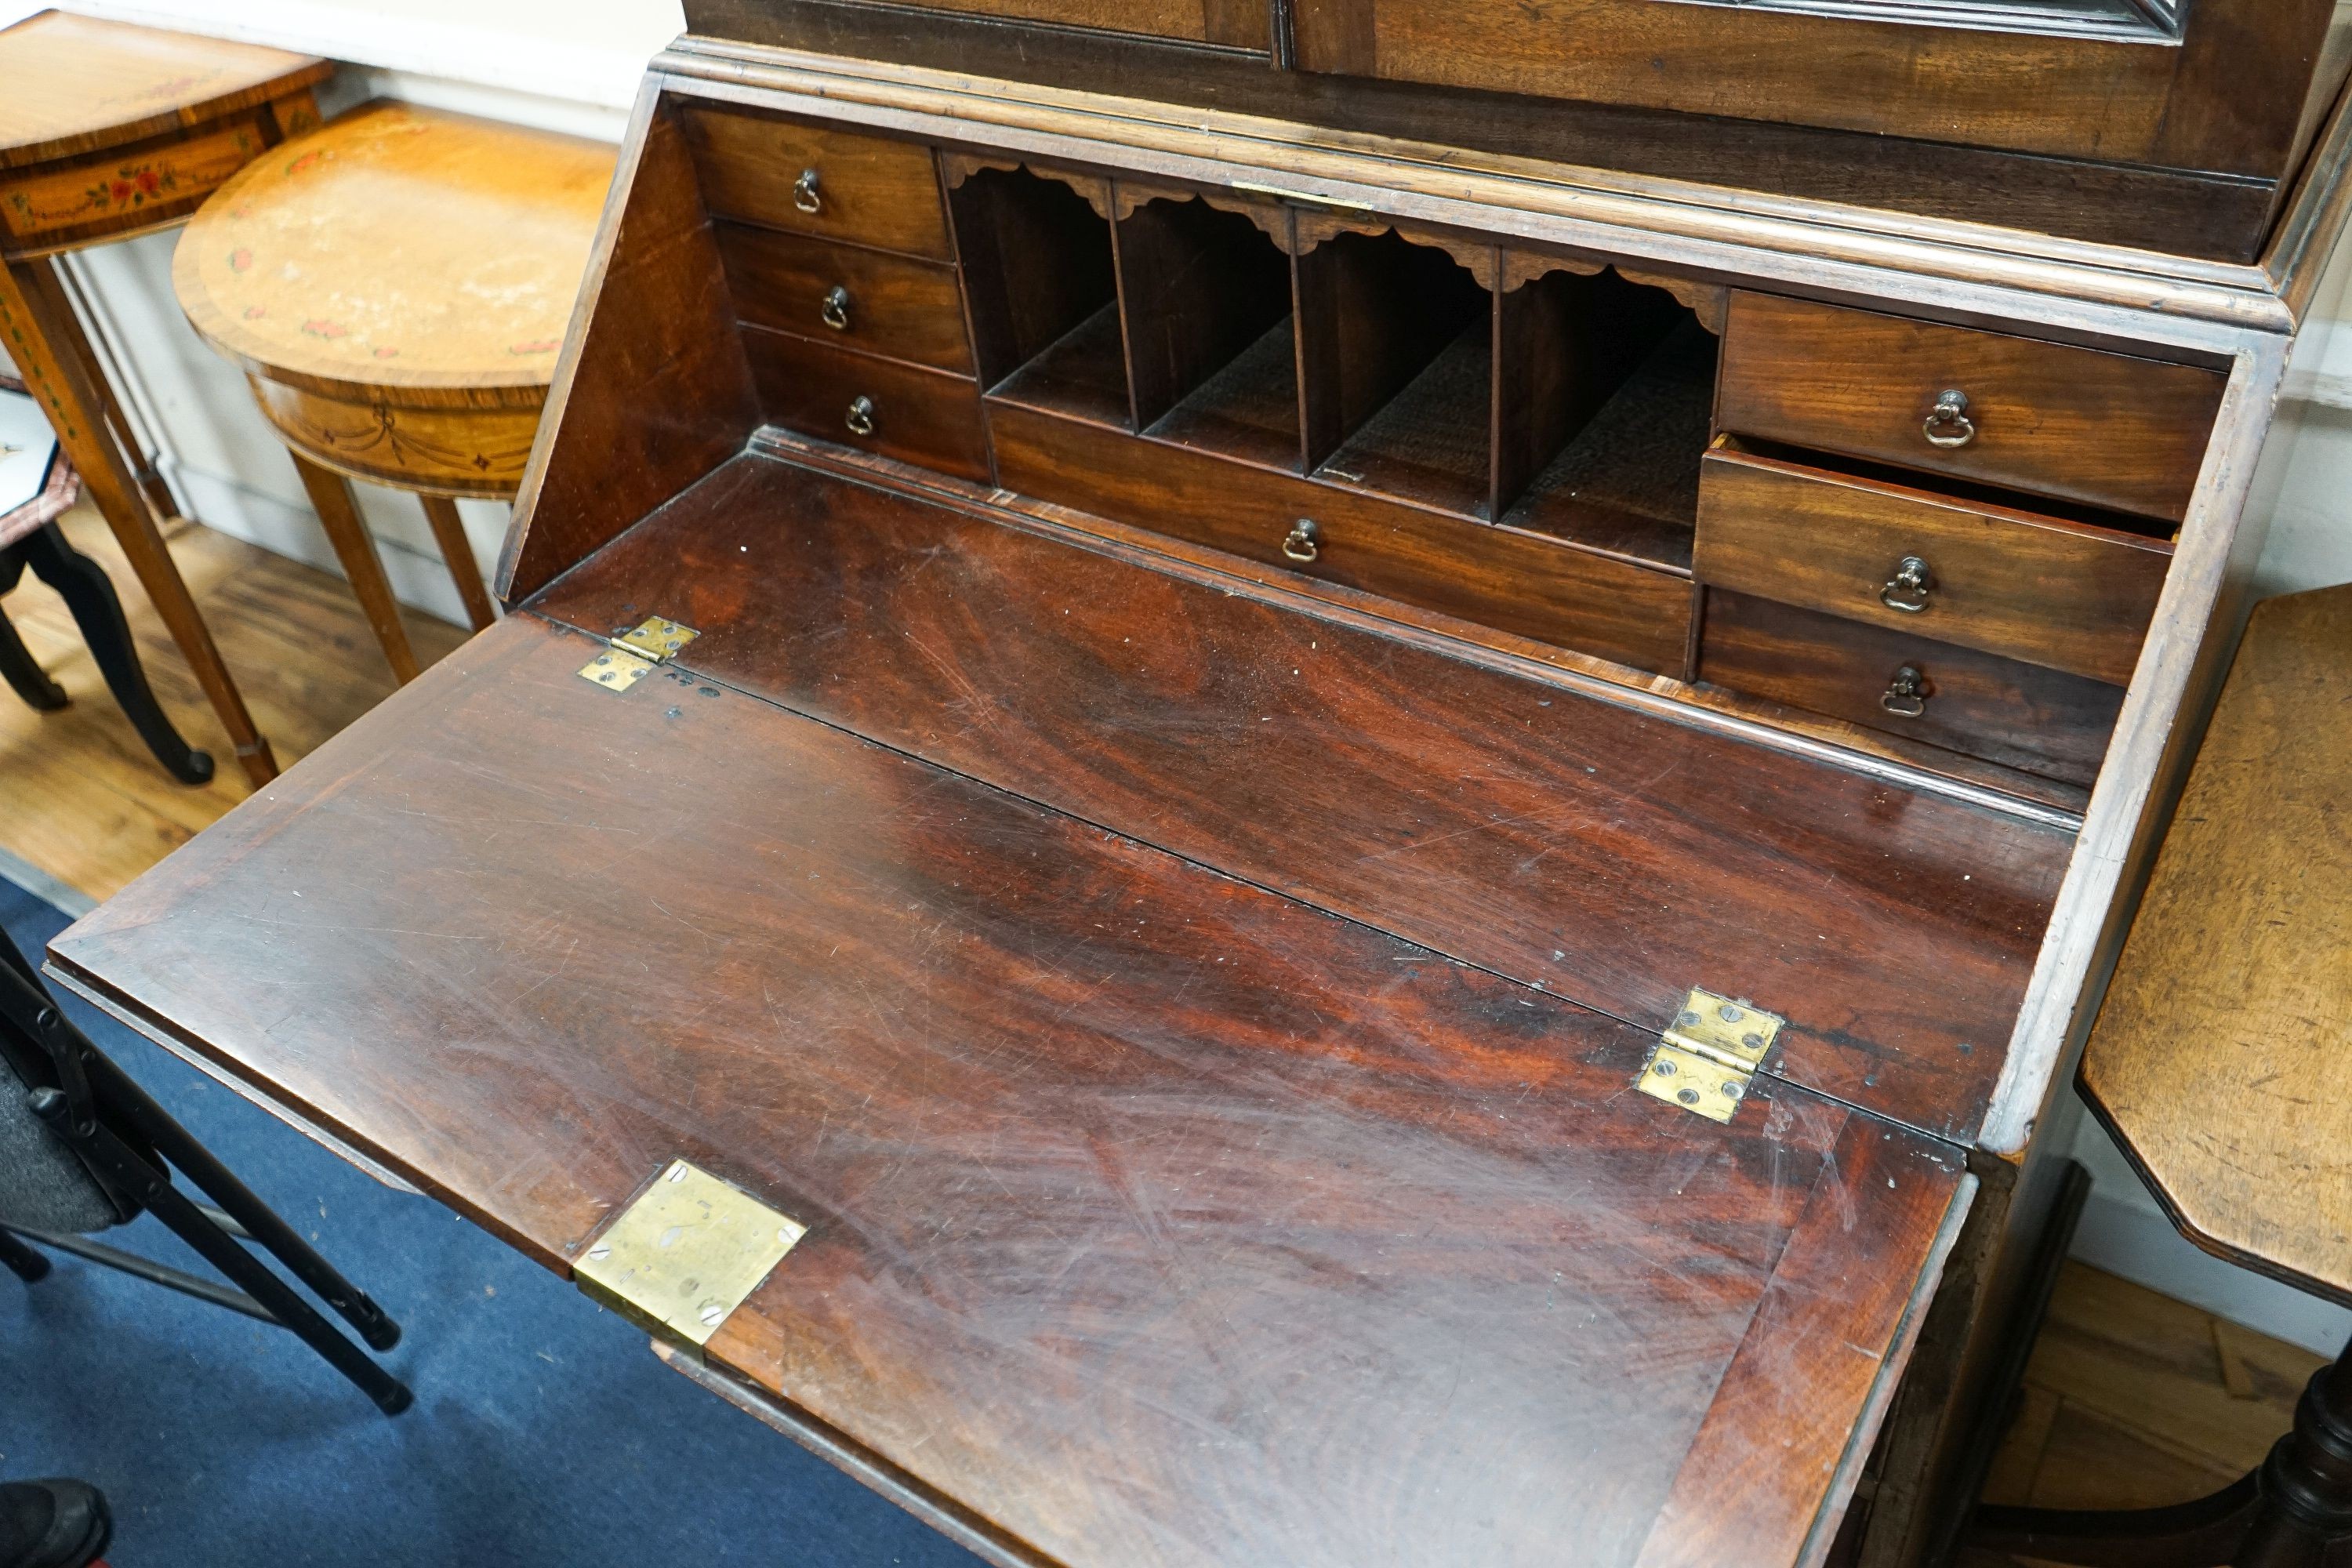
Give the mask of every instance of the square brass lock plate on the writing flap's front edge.
[(673, 1159), (572, 1262), (593, 1300), (701, 1352), (809, 1232), (741, 1187)]

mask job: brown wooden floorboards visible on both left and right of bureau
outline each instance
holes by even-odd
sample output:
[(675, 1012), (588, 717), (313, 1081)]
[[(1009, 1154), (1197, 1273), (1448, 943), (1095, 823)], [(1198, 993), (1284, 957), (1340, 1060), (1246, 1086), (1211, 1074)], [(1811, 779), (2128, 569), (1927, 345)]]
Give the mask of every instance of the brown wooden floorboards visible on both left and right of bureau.
[[(0, 609), (75, 701), (66, 712), (38, 715), (0, 691), (0, 849), (106, 898), (235, 806), (247, 788), (106, 527), (82, 508), (66, 520), (66, 534), (113, 574), (148, 679), (181, 733), (219, 762), (205, 788), (165, 776), (108, 698), (64, 604), (31, 578), (7, 595)], [(179, 529), (172, 552), (282, 764), (390, 693), (383, 656), (339, 578), (200, 527)], [(409, 637), (430, 663), (466, 632), (412, 614)], [(2211, 1490), (2260, 1462), (2319, 1363), (2293, 1345), (2070, 1262), (1985, 1497), (2143, 1507)], [(2006, 1568), (2009, 1559), (1971, 1554), (1964, 1563)]]

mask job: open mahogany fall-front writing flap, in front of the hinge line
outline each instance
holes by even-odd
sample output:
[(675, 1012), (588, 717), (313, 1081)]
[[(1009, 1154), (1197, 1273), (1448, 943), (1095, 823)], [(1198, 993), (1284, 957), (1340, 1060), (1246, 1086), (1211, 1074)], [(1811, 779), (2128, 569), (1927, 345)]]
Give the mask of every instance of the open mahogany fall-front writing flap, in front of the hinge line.
[(673, 1157), (795, 1215), (710, 1359), (1073, 1568), (1621, 1568), (1726, 1371), (1778, 1450), (1900, 1361), (1825, 1281), (1957, 1154), (593, 646), (499, 623), (54, 961), (557, 1272)]

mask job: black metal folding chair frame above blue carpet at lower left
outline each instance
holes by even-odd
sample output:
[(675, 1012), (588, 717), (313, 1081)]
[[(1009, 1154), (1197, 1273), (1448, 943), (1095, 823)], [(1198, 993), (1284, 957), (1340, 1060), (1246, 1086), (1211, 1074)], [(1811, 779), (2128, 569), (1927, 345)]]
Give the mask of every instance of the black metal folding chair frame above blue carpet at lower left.
[[(336, 1333), (310, 1302), (254, 1258), (240, 1237), (278, 1258), (372, 1347), (390, 1349), (397, 1345), (400, 1326), (92, 1046), (49, 1001), (33, 966), (5, 933), (0, 933), (0, 1048), (7, 1051), (16, 1077), (33, 1084), (26, 1105), (82, 1159), (82, 1166), (113, 1197), (125, 1218), (141, 1208), (153, 1211), (172, 1234), (226, 1274), (235, 1291), (87, 1241), (64, 1251), (273, 1321), (325, 1356), (386, 1415), (409, 1408), (414, 1399), (409, 1389)], [(219, 1208), (205, 1208), (174, 1187), (172, 1171), (188, 1178)], [(24, 1246), (26, 1237), (42, 1244), (54, 1241), (40, 1232), (0, 1232), (0, 1262), (33, 1281), (47, 1274), (49, 1265)], [(26, 1272), (26, 1258), (35, 1272)]]

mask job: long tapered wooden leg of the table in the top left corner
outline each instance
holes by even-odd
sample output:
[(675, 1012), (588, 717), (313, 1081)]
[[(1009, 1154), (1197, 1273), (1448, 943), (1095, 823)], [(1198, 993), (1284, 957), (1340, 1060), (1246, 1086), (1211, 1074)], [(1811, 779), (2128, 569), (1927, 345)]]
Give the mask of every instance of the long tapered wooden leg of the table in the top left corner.
[(9, 261), (0, 266), (0, 339), (26, 388), (40, 400), (42, 411), (56, 428), (56, 440), (73, 458), (89, 498), (96, 503), (106, 527), (115, 531), (115, 543), (129, 557), (139, 585), (146, 588), (155, 614), (172, 630), (172, 639), (188, 658), (198, 686), (221, 717), (228, 741), (245, 766), (245, 776), (256, 785), (278, 778), (278, 759), (270, 743), (254, 729), (245, 710), (245, 696), (221, 663), (221, 649), (212, 642), (212, 630), (188, 592), (186, 578), (172, 550), (162, 543), (162, 529), (148, 508), (146, 494), (132, 475), (129, 461), (108, 435), (103, 418), (106, 393), (99, 383), (96, 362), (82, 339), (82, 324), (66, 303), (64, 287), (49, 261)]

